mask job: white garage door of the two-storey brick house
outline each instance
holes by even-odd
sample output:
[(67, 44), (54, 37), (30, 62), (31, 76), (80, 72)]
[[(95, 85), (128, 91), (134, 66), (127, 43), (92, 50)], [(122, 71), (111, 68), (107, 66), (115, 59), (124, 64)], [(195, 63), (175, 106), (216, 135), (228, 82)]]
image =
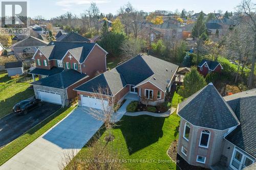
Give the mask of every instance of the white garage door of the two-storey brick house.
[(44, 90), (38, 90), (39, 98), (42, 101), (50, 102), (50, 103), (56, 103), (61, 105), (61, 97), (59, 93), (50, 92), (50, 91), (44, 91)]

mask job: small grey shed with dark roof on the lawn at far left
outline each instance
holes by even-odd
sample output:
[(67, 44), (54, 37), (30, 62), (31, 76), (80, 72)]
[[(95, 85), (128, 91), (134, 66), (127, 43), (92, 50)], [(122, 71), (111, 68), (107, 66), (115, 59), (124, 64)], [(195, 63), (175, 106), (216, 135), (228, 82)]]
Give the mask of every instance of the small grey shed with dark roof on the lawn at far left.
[(5, 63), (5, 69), (8, 72), (8, 76), (21, 75), (24, 72), (22, 61)]

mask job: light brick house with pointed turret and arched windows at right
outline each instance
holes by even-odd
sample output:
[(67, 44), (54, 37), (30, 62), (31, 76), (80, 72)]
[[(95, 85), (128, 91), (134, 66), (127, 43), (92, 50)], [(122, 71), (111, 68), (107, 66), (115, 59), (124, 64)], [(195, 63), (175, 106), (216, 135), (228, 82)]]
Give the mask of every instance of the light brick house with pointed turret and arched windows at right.
[(191, 165), (241, 170), (256, 161), (256, 89), (225, 96), (208, 84), (180, 103), (178, 154)]

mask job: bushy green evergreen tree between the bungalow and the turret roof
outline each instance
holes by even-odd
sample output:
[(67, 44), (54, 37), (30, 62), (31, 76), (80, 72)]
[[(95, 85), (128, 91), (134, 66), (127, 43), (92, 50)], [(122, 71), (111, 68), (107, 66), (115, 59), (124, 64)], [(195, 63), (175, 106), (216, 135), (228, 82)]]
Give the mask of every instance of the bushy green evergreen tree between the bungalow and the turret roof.
[(197, 68), (192, 67), (191, 71), (185, 75), (183, 84), (184, 86), (178, 90), (178, 93), (185, 99), (202, 89), (206, 82), (204, 77), (199, 74)]

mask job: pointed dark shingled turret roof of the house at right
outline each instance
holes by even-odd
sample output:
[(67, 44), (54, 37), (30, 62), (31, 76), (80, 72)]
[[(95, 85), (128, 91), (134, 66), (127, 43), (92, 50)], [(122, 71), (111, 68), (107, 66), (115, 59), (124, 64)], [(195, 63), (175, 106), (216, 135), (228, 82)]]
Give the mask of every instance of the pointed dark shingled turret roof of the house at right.
[(199, 127), (225, 130), (239, 125), (236, 114), (212, 83), (181, 102), (177, 113)]

